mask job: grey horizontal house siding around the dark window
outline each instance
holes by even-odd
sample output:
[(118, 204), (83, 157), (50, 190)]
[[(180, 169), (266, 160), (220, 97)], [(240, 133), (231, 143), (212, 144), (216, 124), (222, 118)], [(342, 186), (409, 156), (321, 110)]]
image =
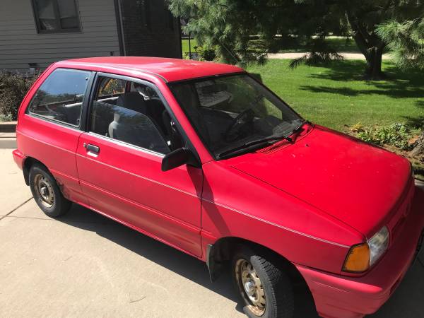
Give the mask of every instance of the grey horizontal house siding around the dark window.
[(28, 71), (62, 59), (119, 55), (114, 0), (77, 1), (81, 32), (37, 33), (30, 0), (2, 0), (0, 69)]

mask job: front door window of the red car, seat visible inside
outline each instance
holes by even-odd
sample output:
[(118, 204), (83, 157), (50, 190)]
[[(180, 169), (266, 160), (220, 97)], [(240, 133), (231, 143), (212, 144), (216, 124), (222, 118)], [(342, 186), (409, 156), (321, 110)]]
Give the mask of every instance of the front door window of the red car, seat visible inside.
[(182, 147), (182, 139), (156, 90), (116, 78), (99, 78), (90, 131), (157, 153)]

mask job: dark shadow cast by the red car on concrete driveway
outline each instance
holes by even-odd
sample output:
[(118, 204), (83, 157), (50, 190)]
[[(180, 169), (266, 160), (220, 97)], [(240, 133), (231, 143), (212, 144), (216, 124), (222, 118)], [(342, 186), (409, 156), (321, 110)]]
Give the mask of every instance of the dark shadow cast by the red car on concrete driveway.
[[(225, 271), (218, 281), (211, 283), (206, 264), (199, 259), (179, 252), (177, 249), (76, 204), (73, 204), (71, 211), (60, 218), (60, 221), (76, 228), (96, 232), (107, 240), (155, 262), (158, 266), (163, 266), (204, 288), (238, 302), (232, 287), (230, 271)], [(421, 253), (421, 259), (424, 259), (423, 254)], [(295, 285), (295, 317), (318, 317), (310, 293), (305, 289), (302, 283)], [(423, 300), (424, 268), (417, 262), (409, 270), (404, 282), (401, 283), (389, 302), (372, 317), (424, 317)], [(242, 312), (240, 303), (235, 309)]]

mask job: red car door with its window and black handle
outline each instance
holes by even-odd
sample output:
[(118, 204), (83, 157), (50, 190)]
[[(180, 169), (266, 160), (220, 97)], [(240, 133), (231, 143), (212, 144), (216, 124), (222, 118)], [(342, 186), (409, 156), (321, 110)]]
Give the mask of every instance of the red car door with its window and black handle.
[[(104, 78), (114, 78), (124, 91), (102, 98)], [(201, 256), (202, 170), (187, 165), (161, 170), (165, 153), (175, 150), (175, 136), (163, 129), (163, 121), (173, 118), (169, 106), (158, 88), (139, 79), (99, 73), (96, 83), (77, 149), (90, 208)]]

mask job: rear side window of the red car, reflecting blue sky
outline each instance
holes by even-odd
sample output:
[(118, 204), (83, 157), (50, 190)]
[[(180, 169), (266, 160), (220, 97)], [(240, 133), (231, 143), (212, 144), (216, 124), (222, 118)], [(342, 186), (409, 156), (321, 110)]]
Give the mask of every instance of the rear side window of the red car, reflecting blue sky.
[(57, 69), (38, 88), (28, 113), (79, 126), (90, 72)]

